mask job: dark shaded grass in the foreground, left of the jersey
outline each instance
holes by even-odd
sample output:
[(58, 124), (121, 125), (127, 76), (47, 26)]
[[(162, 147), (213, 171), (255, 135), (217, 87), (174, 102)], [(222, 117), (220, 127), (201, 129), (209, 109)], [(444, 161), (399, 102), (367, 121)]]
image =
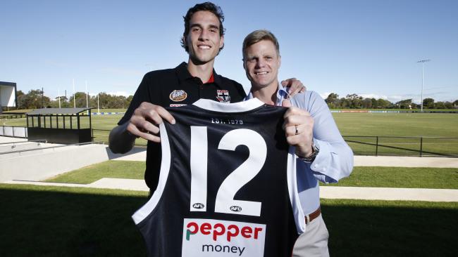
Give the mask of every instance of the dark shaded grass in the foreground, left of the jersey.
[(0, 256), (146, 256), (145, 196), (0, 188)]

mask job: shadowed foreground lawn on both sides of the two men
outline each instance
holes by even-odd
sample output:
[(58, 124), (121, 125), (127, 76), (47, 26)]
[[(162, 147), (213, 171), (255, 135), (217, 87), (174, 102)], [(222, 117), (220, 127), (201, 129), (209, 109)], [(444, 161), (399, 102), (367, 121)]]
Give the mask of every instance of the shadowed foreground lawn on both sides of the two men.
[[(145, 256), (135, 192), (0, 187), (0, 256)], [(331, 256), (454, 256), (457, 204), (324, 200)], [(177, 240), (180, 240), (177, 238)]]

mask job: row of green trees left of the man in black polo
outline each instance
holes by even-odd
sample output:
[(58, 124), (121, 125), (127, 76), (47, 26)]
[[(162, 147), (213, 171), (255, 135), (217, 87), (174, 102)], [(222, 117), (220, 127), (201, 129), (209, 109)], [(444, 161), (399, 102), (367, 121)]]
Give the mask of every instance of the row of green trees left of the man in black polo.
[[(130, 101), (132, 100), (133, 95), (125, 97), (123, 95), (111, 95), (109, 93), (101, 92), (99, 93), (99, 108), (100, 109), (126, 109)], [(61, 96), (61, 107), (62, 108), (73, 108), (73, 101), (75, 101), (76, 107), (86, 107), (86, 93), (85, 92), (76, 92), (75, 99), (73, 95), (70, 95), (68, 98), (66, 96)], [(39, 108), (58, 108), (59, 107), (59, 98), (51, 100), (51, 98), (42, 94), (42, 91), (39, 89), (30, 90), (28, 93), (23, 93), (23, 91), (18, 91), (17, 94), (17, 109), (39, 109)], [(88, 95), (87, 103), (89, 107), (97, 108), (97, 95), (91, 96)]]

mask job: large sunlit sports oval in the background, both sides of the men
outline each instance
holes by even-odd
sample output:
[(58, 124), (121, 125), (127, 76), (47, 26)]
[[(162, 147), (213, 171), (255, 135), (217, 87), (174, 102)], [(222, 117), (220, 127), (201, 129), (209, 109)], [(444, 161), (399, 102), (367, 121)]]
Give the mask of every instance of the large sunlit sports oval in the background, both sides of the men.
[[(108, 142), (109, 130), (116, 126), (122, 115), (94, 115), (92, 128), (94, 141)], [(457, 155), (458, 114), (429, 113), (333, 113), (336, 124), (345, 140), (356, 154), (373, 155)], [(88, 119), (82, 121), (87, 127)], [(25, 126), (25, 119), (1, 120), (5, 126)], [(49, 124), (49, 122), (48, 122)], [(69, 121), (67, 125), (69, 126)], [(366, 136), (352, 137), (352, 136)], [(379, 146), (375, 144), (378, 138)], [(390, 138), (390, 137), (416, 138)], [(419, 137), (454, 137), (454, 139)], [(146, 145), (146, 140), (137, 140), (137, 145)], [(421, 148), (422, 147), (422, 148)]]

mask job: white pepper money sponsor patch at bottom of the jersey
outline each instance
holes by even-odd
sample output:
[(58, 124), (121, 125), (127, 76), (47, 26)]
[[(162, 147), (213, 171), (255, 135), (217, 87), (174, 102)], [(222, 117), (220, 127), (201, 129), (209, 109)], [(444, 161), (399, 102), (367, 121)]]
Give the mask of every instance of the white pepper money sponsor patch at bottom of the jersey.
[(265, 239), (265, 224), (185, 218), (182, 257), (261, 257)]

